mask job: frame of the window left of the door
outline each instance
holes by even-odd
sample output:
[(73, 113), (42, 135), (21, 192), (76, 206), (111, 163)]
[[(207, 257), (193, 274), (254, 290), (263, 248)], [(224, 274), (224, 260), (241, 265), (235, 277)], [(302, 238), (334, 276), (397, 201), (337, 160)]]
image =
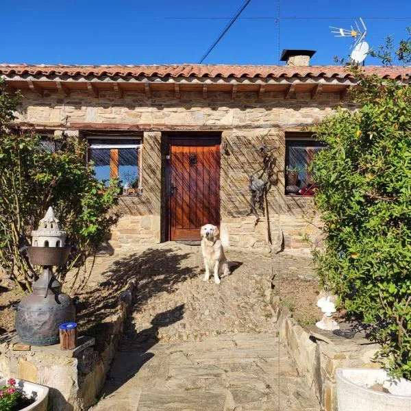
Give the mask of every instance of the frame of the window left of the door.
[[(112, 143), (112, 144), (90, 144), (90, 140), (138, 140), (138, 144), (120, 144), (120, 143)], [(119, 177), (119, 166), (117, 166), (117, 170), (115, 175), (112, 175), (112, 149), (117, 150), (117, 156), (119, 155), (119, 149), (137, 149), (138, 155), (138, 192), (142, 192), (142, 138), (140, 136), (87, 136), (86, 137), (88, 148), (86, 153), (86, 164), (88, 164), (90, 160), (90, 150), (91, 149), (110, 149), (110, 179), (118, 178)]]

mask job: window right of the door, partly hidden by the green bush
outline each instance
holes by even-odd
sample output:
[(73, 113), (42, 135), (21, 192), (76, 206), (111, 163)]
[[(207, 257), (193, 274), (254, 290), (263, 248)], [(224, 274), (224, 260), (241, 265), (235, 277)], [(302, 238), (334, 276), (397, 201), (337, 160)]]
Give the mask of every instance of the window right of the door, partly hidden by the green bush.
[(324, 148), (321, 142), (310, 139), (286, 138), (286, 194), (314, 195), (312, 164), (314, 153)]

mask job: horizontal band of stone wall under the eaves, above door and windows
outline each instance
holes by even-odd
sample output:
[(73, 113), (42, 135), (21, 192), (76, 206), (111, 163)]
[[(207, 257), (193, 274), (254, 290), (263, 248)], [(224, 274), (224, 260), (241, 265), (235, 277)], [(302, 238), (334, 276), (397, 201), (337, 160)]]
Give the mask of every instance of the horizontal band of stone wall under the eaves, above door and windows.
[(105, 123), (145, 125), (155, 129), (160, 125), (194, 126), (191, 130), (244, 128), (303, 127), (321, 121), (338, 105), (352, 108), (348, 100), (340, 101), (338, 92), (326, 92), (311, 99), (310, 92), (293, 93), (284, 99), (284, 92), (266, 92), (258, 99), (256, 92), (238, 92), (236, 99), (229, 92), (209, 92), (203, 99), (200, 92), (153, 91), (151, 99), (144, 93), (125, 92), (119, 99), (113, 91), (99, 93), (99, 98), (86, 91), (72, 90), (70, 97), (57, 92), (23, 90), (24, 99), (17, 114), (18, 122), (44, 125), (71, 123)]

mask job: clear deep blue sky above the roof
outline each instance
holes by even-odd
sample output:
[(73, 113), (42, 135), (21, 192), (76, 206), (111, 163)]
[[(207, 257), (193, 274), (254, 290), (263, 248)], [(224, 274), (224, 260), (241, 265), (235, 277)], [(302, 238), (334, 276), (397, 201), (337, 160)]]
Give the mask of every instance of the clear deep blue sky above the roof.
[[(4, 1), (0, 62), (197, 63), (242, 3)], [(312, 64), (334, 64), (334, 55), (346, 56), (351, 42), (334, 38), (328, 26), (349, 28), (360, 16), (367, 41), (377, 47), (387, 35), (406, 36), (411, 1), (251, 0), (204, 63), (278, 64), (282, 49), (313, 49)], [(377, 62), (367, 58), (366, 64)]]

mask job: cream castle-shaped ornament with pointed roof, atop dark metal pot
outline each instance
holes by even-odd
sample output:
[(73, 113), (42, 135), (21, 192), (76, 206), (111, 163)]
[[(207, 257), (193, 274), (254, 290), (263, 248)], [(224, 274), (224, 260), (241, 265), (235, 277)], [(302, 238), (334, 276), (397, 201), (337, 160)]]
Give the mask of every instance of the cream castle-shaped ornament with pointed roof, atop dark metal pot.
[(49, 207), (46, 215), (40, 220), (38, 229), (32, 232), (32, 246), (34, 247), (64, 247), (66, 232), (60, 228), (59, 221)]

